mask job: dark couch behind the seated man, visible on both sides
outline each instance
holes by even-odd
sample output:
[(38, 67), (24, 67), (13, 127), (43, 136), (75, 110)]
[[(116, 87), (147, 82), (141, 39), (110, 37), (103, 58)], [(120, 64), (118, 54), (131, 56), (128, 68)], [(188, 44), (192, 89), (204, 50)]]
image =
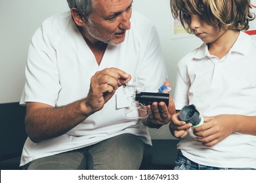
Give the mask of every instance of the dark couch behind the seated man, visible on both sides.
[[(18, 103), (0, 104), (1, 170), (20, 169), (20, 155), (27, 137), (24, 128), (25, 114), (26, 107), (22, 107)], [(173, 169), (177, 156), (177, 142), (179, 141), (173, 139), (152, 140), (153, 146), (146, 146), (144, 150), (140, 169)]]

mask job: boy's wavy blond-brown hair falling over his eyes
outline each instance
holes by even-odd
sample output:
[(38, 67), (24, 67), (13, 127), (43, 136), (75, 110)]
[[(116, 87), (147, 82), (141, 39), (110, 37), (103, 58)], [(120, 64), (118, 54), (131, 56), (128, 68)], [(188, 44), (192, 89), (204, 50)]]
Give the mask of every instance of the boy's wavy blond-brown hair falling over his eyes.
[(219, 29), (238, 31), (249, 29), (249, 21), (255, 18), (250, 12), (250, 0), (171, 0), (170, 3), (173, 17), (181, 20), (188, 33), (192, 33), (190, 14), (200, 16)]

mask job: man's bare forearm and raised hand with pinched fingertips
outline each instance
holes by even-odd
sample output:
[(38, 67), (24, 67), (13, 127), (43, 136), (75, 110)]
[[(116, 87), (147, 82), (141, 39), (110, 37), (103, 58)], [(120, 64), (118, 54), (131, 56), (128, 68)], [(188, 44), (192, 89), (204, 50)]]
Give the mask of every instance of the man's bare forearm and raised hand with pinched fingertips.
[(98, 71), (91, 78), (87, 98), (66, 106), (52, 107), (43, 103), (26, 103), (26, 132), (33, 142), (58, 137), (100, 110), (119, 86), (131, 80), (124, 71), (111, 68)]

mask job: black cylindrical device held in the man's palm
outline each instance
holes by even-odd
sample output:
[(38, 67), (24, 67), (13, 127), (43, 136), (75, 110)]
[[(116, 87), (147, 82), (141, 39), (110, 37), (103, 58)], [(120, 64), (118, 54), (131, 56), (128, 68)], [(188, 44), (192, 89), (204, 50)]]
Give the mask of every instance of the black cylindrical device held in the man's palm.
[(154, 102), (160, 103), (163, 101), (165, 105), (169, 105), (169, 93), (151, 93), (140, 92), (136, 93), (135, 101), (139, 101), (142, 105), (152, 105)]

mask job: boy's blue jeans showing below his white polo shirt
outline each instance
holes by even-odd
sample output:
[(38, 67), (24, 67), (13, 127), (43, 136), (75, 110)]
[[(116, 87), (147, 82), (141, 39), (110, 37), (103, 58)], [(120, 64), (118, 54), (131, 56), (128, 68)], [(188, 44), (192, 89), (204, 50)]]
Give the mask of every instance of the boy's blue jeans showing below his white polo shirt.
[(251, 168), (220, 168), (201, 165), (195, 163), (194, 161), (190, 161), (190, 159), (183, 156), (181, 150), (179, 150), (178, 158), (176, 159), (175, 164), (175, 170), (254, 170)]

